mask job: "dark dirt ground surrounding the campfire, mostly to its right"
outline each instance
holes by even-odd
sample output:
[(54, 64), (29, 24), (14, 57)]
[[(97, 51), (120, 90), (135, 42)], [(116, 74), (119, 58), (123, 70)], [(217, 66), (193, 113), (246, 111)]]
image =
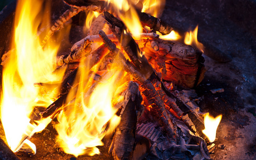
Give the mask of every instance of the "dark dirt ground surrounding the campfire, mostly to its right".
[[(234, 4), (220, 0), (209, 3), (201, 0), (166, 1), (161, 18), (182, 30), (194, 29), (199, 25), (200, 37), (232, 58), (230, 62), (220, 63), (204, 56), (207, 71), (202, 83), (195, 89), (198, 97), (202, 98), (198, 106), (203, 111), (208, 111), (214, 116), (223, 115), (217, 130), (219, 140), (215, 144), (224, 144), (226, 147), (217, 148), (214, 154), (211, 154), (212, 159), (256, 159), (256, 34), (250, 25), (246, 25), (246, 17), (241, 16), (239, 19), (231, 12), (233, 11), (231, 7), (235, 8), (236, 3), (240, 1), (237, 0)], [(241, 6), (237, 14), (249, 12), (256, 6), (253, 0), (246, 3), (250, 5)], [(251, 23), (255, 24), (255, 21)], [(213, 94), (210, 91), (222, 88), (225, 90), (222, 93)], [(1, 127), (0, 125), (0, 135), (3, 135)], [(37, 154), (19, 157), (21, 159), (113, 159), (107, 153), (109, 146), (107, 140), (106, 146), (100, 148), (102, 155), (75, 158), (54, 147), (55, 135), (57, 132), (50, 124), (43, 132), (36, 133), (31, 139), (37, 146)]]

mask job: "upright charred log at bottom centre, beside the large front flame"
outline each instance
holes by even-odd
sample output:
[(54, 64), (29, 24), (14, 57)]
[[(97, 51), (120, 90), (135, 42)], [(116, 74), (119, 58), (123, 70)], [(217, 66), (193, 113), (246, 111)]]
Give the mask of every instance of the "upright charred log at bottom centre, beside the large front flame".
[(133, 159), (135, 131), (139, 116), (137, 111), (142, 110), (142, 97), (138, 84), (130, 82), (122, 95), (124, 100), (116, 105), (121, 108), (121, 122), (115, 130), (109, 153), (112, 153), (114, 159)]

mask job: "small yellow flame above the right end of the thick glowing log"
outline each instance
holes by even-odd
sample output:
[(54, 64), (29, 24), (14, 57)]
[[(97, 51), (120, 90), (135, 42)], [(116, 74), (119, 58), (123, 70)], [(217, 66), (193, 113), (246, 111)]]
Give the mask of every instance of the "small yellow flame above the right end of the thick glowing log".
[(201, 52), (204, 52), (204, 45), (197, 41), (197, 31), (198, 25), (196, 26), (194, 31), (189, 31), (186, 33), (184, 43), (196, 47)]

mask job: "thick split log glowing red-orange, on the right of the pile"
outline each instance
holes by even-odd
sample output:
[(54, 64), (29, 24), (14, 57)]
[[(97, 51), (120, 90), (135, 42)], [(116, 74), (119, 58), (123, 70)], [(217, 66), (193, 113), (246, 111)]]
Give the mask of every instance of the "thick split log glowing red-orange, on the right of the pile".
[(158, 45), (158, 51), (154, 50), (150, 40), (140, 42), (139, 47), (165, 81), (194, 88), (203, 80), (205, 67), (201, 52), (178, 42), (162, 39), (155, 39), (154, 42)]

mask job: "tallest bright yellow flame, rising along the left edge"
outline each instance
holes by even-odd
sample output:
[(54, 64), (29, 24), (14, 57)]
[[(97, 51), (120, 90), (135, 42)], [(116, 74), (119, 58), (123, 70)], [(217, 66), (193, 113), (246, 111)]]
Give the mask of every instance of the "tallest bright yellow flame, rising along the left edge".
[[(52, 59), (56, 57), (59, 45), (47, 45), (43, 50), (37, 36), (38, 26), (45, 23), (42, 22), (45, 20), (42, 5), (43, 1), (38, 0), (18, 2), (13, 42), (15, 51), (3, 66), (1, 121), (6, 140), (13, 151), (17, 151), (22, 139), (31, 137), (35, 132), (33, 130), (38, 129), (36, 124), (41, 123), (30, 123), (29, 116), (34, 107), (47, 107), (55, 97), (53, 92), (39, 94), (34, 83), (54, 83), (61, 80), (60, 75), (52, 74)], [(44, 120), (43, 126), (46, 126), (50, 120)]]

